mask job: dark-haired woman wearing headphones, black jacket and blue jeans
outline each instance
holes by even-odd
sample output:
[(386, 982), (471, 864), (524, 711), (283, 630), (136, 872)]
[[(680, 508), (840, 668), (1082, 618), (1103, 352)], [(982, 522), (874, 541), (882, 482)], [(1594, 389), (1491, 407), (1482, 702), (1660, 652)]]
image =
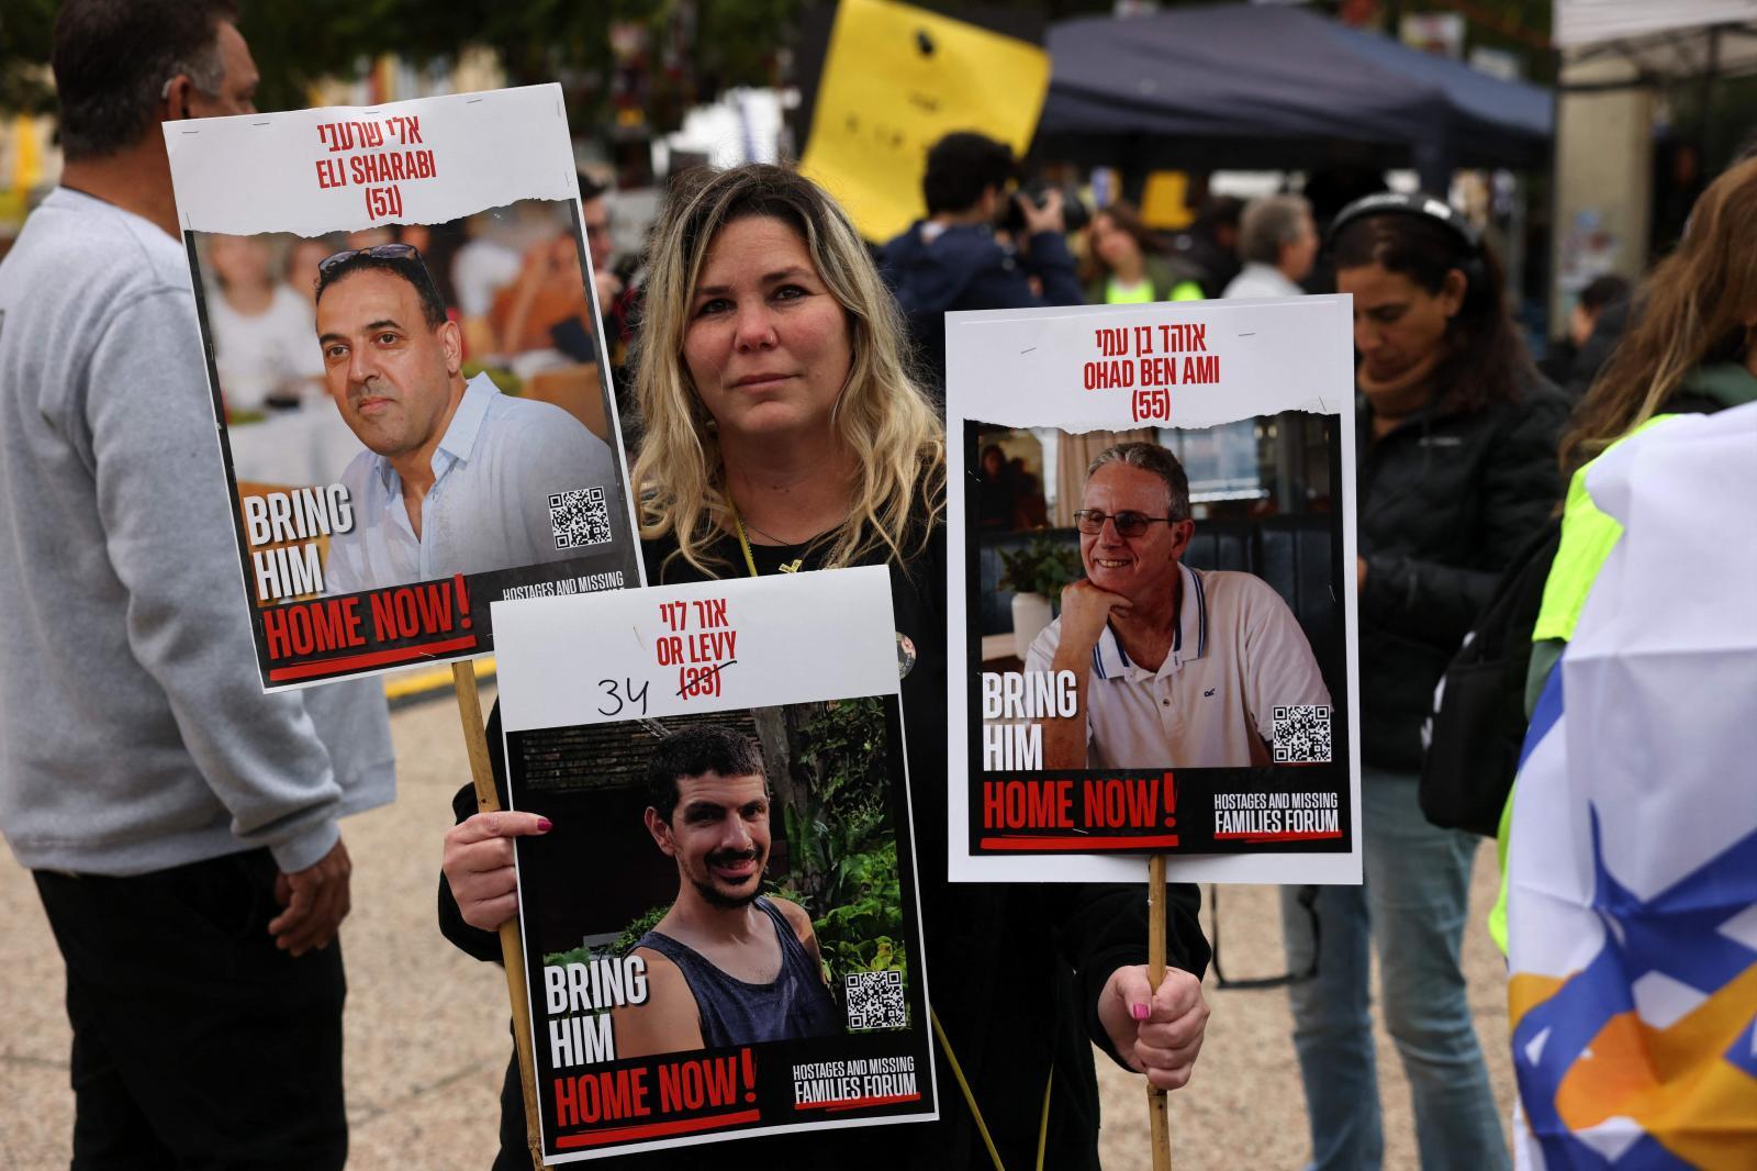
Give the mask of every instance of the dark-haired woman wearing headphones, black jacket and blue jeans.
[[(1421, 1166), (1506, 1167), (1458, 949), (1476, 839), (1416, 800), (1434, 686), (1495, 578), (1560, 496), (1565, 399), (1532, 366), (1476, 232), (1428, 195), (1374, 195), (1330, 234), (1355, 297), (1363, 884), (1284, 890), (1316, 1167), (1383, 1155), (1367, 988), (1377, 942), (1386, 1027), (1414, 1099)], [(1314, 923), (1316, 920), (1316, 923)], [(1314, 930), (1316, 927), (1316, 930)]]

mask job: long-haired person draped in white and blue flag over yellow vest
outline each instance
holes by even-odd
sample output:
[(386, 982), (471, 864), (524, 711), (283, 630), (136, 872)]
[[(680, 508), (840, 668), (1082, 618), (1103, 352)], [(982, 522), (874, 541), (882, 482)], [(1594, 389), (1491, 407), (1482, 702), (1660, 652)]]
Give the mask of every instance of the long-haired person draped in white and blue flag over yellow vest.
[(1738, 930), (1757, 826), (1739, 747), (1753, 222), (1757, 160), (1745, 160), (1697, 199), (1562, 440), (1574, 475), (1532, 631), (1534, 716), (1490, 918), (1508, 951), (1522, 1166), (1558, 1166), (1608, 1132), (1648, 1162), (1746, 1167), (1757, 1153), (1757, 995)]

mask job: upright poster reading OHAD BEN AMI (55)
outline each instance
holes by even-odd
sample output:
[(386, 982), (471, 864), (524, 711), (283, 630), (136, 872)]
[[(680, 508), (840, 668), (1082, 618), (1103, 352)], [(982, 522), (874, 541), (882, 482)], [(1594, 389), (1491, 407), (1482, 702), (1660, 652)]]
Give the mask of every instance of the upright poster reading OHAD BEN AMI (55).
[(952, 879), (1360, 881), (1353, 403), (1346, 297), (947, 315)]

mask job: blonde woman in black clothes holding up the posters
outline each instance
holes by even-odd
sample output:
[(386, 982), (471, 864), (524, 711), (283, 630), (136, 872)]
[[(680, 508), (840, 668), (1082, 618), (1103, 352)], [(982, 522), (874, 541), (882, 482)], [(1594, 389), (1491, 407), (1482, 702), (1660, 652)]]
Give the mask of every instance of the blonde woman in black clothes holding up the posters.
[[(1093, 1044), (1177, 1088), (1202, 1044), (1209, 948), (1172, 886), (1168, 964), (1146, 981), (1139, 886), (945, 879), (945, 440), (901, 357), (901, 322), (852, 225), (810, 181), (750, 165), (671, 193), (636, 353), (633, 478), (650, 584), (884, 564), (903, 670), (914, 849), (940, 1120), (625, 1155), (631, 1167), (1098, 1167)], [(490, 746), (499, 744), (490, 724)], [(504, 761), (495, 760), (504, 784)], [(446, 837), (441, 930), (480, 958), (517, 909), (513, 846), (534, 814), (473, 812)], [(970, 1083), (963, 1099), (945, 1055)], [(1045, 1109), (1045, 1090), (1049, 1095)], [(517, 1067), (495, 1171), (529, 1166)], [(1045, 1152), (1038, 1164), (1038, 1150)]]

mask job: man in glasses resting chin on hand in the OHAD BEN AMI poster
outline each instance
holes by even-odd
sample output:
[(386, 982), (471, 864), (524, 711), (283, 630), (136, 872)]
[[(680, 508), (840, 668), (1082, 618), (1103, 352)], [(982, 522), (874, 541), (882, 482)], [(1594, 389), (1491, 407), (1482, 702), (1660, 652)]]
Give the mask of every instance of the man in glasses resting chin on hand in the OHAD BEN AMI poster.
[(1274, 709), (1330, 703), (1318, 659), (1272, 586), (1181, 563), (1189, 480), (1156, 443), (1117, 443), (1086, 469), (1082, 580), (1026, 654), (1072, 672), (1074, 716), (1042, 721), (1045, 768), (1272, 763)]

